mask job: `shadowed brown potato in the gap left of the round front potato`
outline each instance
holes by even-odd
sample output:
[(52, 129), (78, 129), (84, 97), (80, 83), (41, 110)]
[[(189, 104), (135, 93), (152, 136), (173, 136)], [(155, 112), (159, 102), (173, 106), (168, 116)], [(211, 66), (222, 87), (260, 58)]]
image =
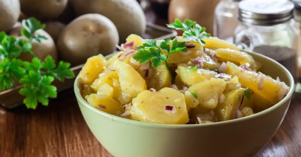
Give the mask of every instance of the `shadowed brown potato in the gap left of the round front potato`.
[(46, 22), (46, 27), (44, 30), (51, 36), (53, 41), (56, 43), (58, 37), (60, 36), (61, 32), (65, 28), (65, 24), (58, 22), (58, 21), (50, 21)]

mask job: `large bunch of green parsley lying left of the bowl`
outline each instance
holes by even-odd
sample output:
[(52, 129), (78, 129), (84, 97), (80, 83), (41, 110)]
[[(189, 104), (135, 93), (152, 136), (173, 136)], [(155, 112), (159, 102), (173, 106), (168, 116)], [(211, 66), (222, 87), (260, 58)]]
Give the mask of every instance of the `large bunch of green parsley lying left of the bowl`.
[[(22, 25), (21, 34), (26, 40), (0, 32), (0, 91), (12, 88), (14, 82), (19, 82), (23, 85), (19, 91), (25, 96), (23, 103), (27, 108), (36, 109), (38, 103), (47, 106), (49, 98), (57, 97), (57, 88), (51, 85), (55, 78), (63, 82), (65, 78), (74, 78), (75, 75), (69, 69), (70, 63), (60, 61), (56, 65), (51, 56), (41, 61), (31, 51), (31, 42), (47, 40), (45, 36), (35, 34), (45, 28), (44, 24), (30, 17), (23, 20)], [(26, 52), (33, 56), (31, 62), (18, 58)]]

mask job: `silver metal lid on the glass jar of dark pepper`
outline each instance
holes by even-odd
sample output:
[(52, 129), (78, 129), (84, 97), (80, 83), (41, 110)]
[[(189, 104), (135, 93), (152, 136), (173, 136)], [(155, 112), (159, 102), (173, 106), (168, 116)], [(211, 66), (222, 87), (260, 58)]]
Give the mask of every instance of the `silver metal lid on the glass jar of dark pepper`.
[(293, 9), (289, 0), (243, 0), (238, 5), (238, 20), (252, 25), (276, 25), (292, 19)]

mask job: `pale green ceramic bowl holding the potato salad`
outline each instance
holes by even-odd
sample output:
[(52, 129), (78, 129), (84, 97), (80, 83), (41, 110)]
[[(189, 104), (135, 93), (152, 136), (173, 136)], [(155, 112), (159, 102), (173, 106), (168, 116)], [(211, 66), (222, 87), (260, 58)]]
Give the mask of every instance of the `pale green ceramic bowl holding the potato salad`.
[[(115, 157), (244, 157), (259, 151), (276, 133), (290, 105), (293, 77), (281, 64), (252, 53), (261, 71), (290, 86), (276, 105), (254, 115), (225, 122), (166, 125), (129, 120), (90, 106), (80, 95), (78, 78), (74, 92), (88, 127)], [(109, 58), (111, 56), (107, 56)]]

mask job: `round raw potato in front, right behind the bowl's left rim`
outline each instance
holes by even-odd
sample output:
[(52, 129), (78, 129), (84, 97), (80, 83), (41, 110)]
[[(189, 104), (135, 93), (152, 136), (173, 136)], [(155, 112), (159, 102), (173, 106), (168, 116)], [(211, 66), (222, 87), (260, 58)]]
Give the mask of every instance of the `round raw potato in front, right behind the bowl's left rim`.
[(64, 28), (57, 48), (61, 60), (79, 65), (89, 57), (113, 53), (118, 42), (118, 31), (111, 20), (100, 14), (85, 14)]

